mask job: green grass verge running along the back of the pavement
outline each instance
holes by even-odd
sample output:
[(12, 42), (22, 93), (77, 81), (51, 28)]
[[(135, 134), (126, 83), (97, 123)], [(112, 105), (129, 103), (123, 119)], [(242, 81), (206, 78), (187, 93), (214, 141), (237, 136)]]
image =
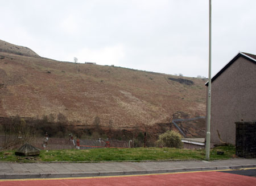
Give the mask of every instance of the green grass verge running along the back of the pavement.
[[(224, 155), (217, 155), (224, 151)], [(205, 159), (205, 150), (187, 150), (178, 148), (94, 148), (90, 150), (42, 150), (35, 159), (16, 156), (15, 151), (0, 152), (0, 161), (31, 162), (80, 162), (80, 161), (125, 161), (125, 160), (189, 160)], [(234, 146), (220, 146), (210, 151), (210, 160), (229, 159), (236, 154)]]

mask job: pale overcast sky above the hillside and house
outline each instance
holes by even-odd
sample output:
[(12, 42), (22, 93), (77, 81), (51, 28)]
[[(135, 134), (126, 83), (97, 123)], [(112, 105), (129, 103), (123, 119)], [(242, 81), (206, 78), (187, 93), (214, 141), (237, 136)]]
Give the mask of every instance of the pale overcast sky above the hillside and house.
[[(208, 0), (0, 0), (0, 39), (60, 61), (208, 77)], [(256, 1), (212, 0), (212, 75), (256, 54)]]

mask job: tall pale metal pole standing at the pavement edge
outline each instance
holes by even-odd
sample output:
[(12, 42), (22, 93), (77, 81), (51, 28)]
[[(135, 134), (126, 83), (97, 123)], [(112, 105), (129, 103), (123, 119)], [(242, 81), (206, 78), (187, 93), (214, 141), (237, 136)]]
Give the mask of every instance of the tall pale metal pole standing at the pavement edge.
[(209, 77), (208, 77), (208, 106), (207, 106), (207, 139), (206, 159), (210, 159), (210, 98), (212, 90), (211, 61), (212, 60), (212, 1), (209, 0)]

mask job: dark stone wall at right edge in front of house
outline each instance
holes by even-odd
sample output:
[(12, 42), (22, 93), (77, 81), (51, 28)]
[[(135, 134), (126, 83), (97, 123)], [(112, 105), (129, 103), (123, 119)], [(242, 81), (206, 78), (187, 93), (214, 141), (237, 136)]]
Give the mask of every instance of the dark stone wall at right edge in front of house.
[(236, 155), (256, 158), (256, 121), (236, 123)]

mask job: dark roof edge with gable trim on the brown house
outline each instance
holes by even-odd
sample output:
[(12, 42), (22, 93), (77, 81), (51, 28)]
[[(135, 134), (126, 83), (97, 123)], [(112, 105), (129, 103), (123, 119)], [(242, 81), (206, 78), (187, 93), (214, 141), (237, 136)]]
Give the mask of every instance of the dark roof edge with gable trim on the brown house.
[[(234, 63), (234, 61), (236, 61), (238, 59), (238, 57), (244, 57), (245, 59), (253, 62), (254, 64), (256, 64), (256, 55), (251, 54), (251, 53), (245, 53), (245, 52), (238, 52), (238, 54), (231, 60), (229, 61), (228, 64), (225, 65), (225, 67), (223, 67), (215, 76), (212, 77), (212, 82), (221, 75), (222, 72), (224, 72), (227, 68), (229, 68), (230, 65), (232, 65), (232, 63)], [(208, 82), (205, 84), (206, 86), (208, 86)]]

